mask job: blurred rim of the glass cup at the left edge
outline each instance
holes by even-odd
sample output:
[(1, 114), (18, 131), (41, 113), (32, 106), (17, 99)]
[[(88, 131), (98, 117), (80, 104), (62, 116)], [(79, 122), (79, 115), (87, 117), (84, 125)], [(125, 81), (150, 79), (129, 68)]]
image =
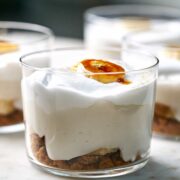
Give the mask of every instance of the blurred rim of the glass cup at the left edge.
[(43, 34), (44, 37), (37, 38), (33, 41), (19, 43), (20, 45), (27, 45), (29, 43), (39, 43), (41, 41), (48, 40), (53, 37), (53, 31), (43, 25), (28, 23), (28, 22), (20, 22), (20, 21), (0, 21), (0, 29), (14, 29), (14, 30), (24, 30), (24, 31), (32, 31)]

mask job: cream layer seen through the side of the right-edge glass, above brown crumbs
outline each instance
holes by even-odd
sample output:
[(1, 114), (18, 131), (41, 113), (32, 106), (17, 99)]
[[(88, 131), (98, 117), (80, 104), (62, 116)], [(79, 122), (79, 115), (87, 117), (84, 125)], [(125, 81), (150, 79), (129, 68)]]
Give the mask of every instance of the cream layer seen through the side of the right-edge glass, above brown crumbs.
[(156, 101), (169, 106), (180, 122), (180, 74), (161, 75), (157, 81)]

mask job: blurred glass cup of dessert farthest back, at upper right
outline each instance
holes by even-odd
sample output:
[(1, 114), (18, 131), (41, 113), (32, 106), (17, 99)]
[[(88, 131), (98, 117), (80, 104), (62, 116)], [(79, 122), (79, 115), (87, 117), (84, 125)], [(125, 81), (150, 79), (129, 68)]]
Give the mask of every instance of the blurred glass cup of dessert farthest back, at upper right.
[(180, 18), (176, 8), (152, 5), (108, 5), (85, 13), (84, 39), (88, 48), (121, 47), (122, 38), (134, 31), (158, 27)]

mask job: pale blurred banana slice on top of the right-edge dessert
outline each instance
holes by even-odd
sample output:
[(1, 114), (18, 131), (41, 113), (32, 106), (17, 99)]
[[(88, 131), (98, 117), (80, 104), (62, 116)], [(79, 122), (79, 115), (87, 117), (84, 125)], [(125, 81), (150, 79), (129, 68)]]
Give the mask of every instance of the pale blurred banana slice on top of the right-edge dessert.
[(169, 58), (180, 60), (180, 44), (169, 44), (165, 47), (164, 55)]

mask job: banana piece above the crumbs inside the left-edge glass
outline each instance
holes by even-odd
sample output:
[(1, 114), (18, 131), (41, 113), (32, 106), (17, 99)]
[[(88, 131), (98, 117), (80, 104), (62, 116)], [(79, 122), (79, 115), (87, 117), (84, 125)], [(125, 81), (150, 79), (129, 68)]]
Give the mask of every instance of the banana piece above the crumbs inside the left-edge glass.
[(8, 115), (14, 111), (13, 101), (0, 100), (0, 115)]

